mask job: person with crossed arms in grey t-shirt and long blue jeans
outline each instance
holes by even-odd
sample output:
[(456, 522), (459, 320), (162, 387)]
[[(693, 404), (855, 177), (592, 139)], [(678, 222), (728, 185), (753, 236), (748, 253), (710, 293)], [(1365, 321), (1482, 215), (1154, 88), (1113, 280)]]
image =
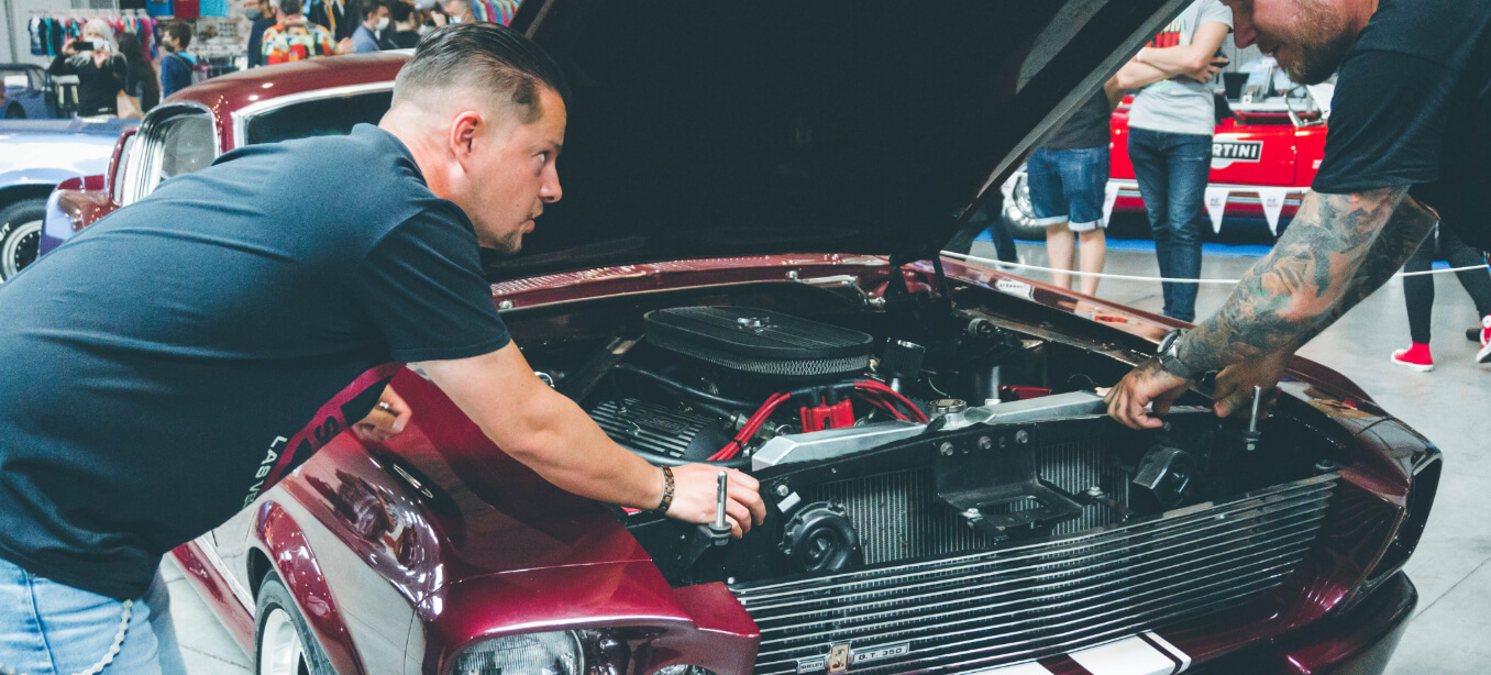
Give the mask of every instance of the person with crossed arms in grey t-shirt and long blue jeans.
[[(1211, 80), (1230, 31), (1230, 9), (1220, 0), (1196, 0), (1118, 72), (1124, 89), (1144, 86), (1129, 110), (1129, 159), (1161, 277), (1202, 276), (1202, 201), (1217, 130)], [(1164, 316), (1196, 320), (1194, 283), (1164, 283)]]

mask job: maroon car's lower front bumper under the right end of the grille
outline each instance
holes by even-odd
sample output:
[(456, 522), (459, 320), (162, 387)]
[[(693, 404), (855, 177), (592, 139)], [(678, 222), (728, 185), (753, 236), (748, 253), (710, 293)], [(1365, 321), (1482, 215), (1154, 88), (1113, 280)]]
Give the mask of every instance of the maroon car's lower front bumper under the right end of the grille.
[(1187, 672), (1203, 675), (1381, 675), (1397, 648), (1418, 590), (1397, 572), (1360, 603), (1308, 629), (1208, 662)]

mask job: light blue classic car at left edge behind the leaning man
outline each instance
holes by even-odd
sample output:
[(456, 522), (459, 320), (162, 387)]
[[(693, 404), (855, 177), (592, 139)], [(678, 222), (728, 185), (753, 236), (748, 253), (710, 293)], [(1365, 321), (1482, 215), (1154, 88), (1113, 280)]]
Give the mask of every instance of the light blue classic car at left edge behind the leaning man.
[(0, 282), (36, 259), (46, 197), (63, 180), (101, 174), (137, 119), (0, 121)]

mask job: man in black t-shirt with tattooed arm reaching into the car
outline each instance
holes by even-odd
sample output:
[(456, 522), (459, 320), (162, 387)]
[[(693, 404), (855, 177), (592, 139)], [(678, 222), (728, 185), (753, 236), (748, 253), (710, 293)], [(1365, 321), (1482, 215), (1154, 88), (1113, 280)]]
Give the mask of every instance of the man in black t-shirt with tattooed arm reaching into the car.
[(1437, 221), (1491, 247), (1491, 0), (1223, 1), (1238, 46), (1257, 43), (1296, 82), (1339, 69), (1325, 158), (1227, 304), (1108, 392), (1108, 414), (1136, 429), (1160, 426), (1206, 373), (1223, 417), (1254, 386), (1273, 390), (1294, 352), (1382, 286)]

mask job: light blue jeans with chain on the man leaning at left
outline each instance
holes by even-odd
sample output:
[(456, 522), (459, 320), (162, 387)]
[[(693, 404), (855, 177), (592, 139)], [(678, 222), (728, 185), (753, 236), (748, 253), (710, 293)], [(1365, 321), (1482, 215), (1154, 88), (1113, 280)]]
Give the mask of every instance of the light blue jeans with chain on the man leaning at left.
[[(0, 559), (0, 666), (25, 675), (73, 675), (109, 651), (124, 603), (37, 577)], [(185, 675), (166, 581), (155, 577), (130, 608), (119, 653), (103, 675)]]

